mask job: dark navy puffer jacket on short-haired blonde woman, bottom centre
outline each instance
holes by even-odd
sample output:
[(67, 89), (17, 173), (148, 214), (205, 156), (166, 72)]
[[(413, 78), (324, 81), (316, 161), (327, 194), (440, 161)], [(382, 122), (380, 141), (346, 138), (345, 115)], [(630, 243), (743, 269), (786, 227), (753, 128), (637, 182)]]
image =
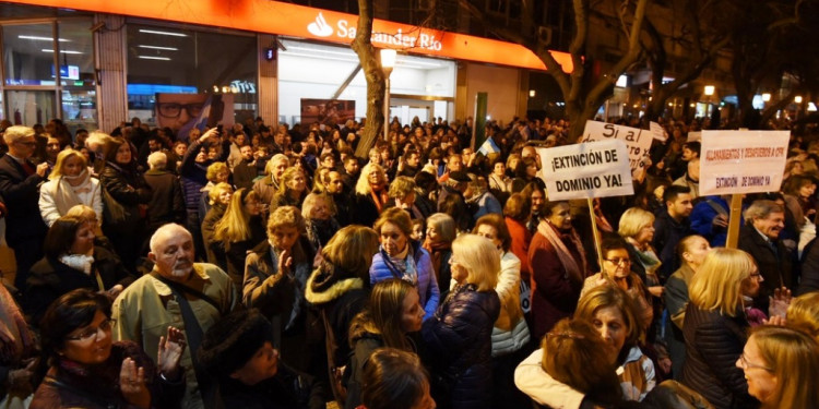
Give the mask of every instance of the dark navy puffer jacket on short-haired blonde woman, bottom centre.
[(495, 290), (472, 284), (455, 287), (424, 322), (422, 337), (435, 373), (449, 384), (450, 401), (441, 408), (488, 408), (491, 405), (491, 332), (500, 312)]

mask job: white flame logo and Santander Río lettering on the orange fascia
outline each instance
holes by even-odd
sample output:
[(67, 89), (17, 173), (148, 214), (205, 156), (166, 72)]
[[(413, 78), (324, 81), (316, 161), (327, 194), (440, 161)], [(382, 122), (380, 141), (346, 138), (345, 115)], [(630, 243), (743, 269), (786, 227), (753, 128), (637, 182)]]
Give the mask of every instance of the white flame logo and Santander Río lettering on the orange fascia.
[[(339, 19), (333, 26), (328, 23), (324, 15), (319, 12), (316, 16), (316, 21), (307, 25), (307, 31), (317, 37), (339, 37), (339, 39), (348, 40), (356, 37), (356, 27), (354, 25), (355, 23), (351, 23), (346, 19)], [(395, 34), (378, 33), (373, 29), (370, 41), (372, 41), (372, 44), (401, 48), (418, 47), (432, 51), (440, 51), (443, 48), (443, 45), (435, 35), (427, 33), (420, 33), (418, 36), (405, 35), (402, 28), (399, 28)]]

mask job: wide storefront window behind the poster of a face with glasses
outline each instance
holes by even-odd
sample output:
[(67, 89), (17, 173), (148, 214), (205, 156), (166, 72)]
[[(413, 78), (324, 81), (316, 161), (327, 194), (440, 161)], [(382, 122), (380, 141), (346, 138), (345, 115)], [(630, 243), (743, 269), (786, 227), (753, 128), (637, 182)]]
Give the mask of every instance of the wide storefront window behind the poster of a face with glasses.
[[(158, 117), (158, 94), (199, 94), (170, 97), (190, 104), (233, 104), (222, 118), (229, 125), (257, 112), (258, 59), (256, 36), (195, 32), (176, 27), (128, 24), (128, 110), (129, 118), (170, 127), (175, 132), (190, 129), (195, 118), (185, 115)], [(213, 95), (222, 97), (214, 98)], [(163, 96), (163, 101), (168, 100)], [(217, 100), (218, 99), (218, 100)], [(180, 103), (181, 104), (181, 103)], [(183, 131), (187, 132), (187, 131)]]

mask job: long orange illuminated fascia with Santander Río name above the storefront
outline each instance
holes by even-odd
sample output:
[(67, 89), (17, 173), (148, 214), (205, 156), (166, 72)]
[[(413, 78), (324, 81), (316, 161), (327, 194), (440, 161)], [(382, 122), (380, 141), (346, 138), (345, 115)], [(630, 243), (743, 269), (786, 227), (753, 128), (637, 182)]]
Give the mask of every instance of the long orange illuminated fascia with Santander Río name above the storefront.
[[(7, 0), (7, 2), (211, 25), (346, 45), (353, 43), (358, 22), (358, 15), (355, 14), (273, 0)], [(377, 47), (397, 48), (412, 53), (546, 70), (546, 64), (532, 50), (519, 44), (380, 19), (372, 20), (371, 41)], [(570, 55), (559, 51), (549, 52), (565, 72), (572, 71), (573, 60)], [(509, 58), (509, 56), (514, 56), (514, 58)]]

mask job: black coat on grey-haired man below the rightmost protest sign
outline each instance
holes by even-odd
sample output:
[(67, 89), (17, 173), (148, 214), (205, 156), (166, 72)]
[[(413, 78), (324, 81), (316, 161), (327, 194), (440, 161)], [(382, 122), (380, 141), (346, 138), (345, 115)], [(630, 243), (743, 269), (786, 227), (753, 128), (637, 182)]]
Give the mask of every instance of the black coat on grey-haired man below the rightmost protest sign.
[(761, 282), (759, 296), (753, 299), (753, 305), (768, 313), (768, 297), (773, 290), (782, 286), (794, 288), (796, 256), (785, 248), (782, 240), (774, 242), (776, 252), (768, 244), (762, 236), (751, 225), (745, 225), (739, 230), (738, 249), (747, 252), (757, 262), (757, 268), (764, 279)]

